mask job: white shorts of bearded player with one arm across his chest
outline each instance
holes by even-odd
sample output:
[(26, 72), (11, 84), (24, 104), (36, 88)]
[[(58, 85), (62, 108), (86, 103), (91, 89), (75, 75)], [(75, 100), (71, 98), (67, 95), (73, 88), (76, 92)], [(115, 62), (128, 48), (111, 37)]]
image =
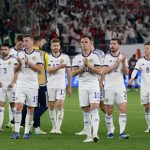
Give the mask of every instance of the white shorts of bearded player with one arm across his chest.
[(66, 89), (49, 88), (48, 101), (65, 100)]

